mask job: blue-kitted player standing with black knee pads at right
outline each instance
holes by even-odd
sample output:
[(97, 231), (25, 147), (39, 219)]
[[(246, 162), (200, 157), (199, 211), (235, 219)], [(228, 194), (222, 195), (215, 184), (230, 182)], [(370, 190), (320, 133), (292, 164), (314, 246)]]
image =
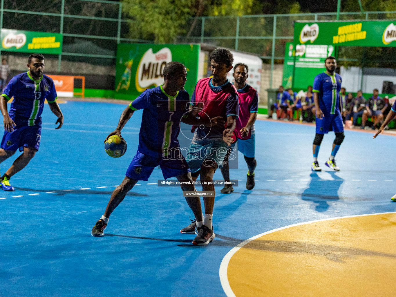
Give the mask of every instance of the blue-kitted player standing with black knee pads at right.
[(333, 170), (340, 169), (335, 164), (335, 154), (344, 140), (343, 118), (341, 116), (341, 76), (335, 73), (337, 62), (335, 57), (329, 56), (326, 58), (324, 65), (326, 71), (315, 76), (314, 79), (314, 102), (316, 109), (316, 135), (312, 147), (314, 154), (314, 161), (311, 169), (313, 171), (321, 171), (322, 169), (318, 163), (318, 153), (320, 144), (322, 143), (324, 134), (329, 131), (334, 131), (335, 139), (333, 142), (333, 149), (329, 159), (325, 165)]

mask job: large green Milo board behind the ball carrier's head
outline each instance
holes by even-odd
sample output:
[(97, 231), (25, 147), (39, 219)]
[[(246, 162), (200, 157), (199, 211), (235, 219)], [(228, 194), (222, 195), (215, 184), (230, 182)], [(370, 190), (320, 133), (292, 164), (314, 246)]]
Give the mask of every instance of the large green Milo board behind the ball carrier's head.
[(187, 68), (186, 91), (192, 95), (198, 77), (198, 44), (118, 44), (115, 97), (133, 100), (145, 89), (164, 83), (167, 63)]

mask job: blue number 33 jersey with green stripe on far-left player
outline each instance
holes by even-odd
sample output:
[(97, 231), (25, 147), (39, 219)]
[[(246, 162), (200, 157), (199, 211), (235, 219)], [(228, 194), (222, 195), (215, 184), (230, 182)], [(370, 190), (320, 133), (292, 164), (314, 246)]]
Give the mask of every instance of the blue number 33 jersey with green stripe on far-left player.
[(11, 78), (2, 96), (7, 100), (14, 97), (8, 114), (19, 127), (41, 126), (44, 100), (52, 103), (57, 99), (52, 78), (43, 74), (40, 80), (34, 80), (29, 72)]

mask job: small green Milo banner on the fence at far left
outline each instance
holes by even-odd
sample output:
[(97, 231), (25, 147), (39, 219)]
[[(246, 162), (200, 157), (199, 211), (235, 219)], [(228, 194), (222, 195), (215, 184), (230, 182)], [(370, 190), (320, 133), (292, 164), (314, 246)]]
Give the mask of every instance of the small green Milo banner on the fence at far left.
[(21, 53), (62, 53), (63, 35), (35, 31), (1, 29), (2, 51)]

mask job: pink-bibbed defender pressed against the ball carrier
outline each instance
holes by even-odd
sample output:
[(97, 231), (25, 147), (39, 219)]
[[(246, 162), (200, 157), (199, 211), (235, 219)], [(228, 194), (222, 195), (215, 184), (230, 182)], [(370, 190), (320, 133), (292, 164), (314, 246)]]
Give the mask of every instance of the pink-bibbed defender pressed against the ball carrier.
[[(202, 190), (213, 191), (213, 196), (204, 197), (205, 215), (194, 213), (196, 220), (180, 230), (181, 233), (193, 233), (196, 228), (198, 235), (192, 242), (196, 245), (206, 245), (215, 238), (212, 225), (215, 203), (213, 175), (218, 167), (223, 167), (228, 146), (232, 143), (231, 135), (235, 129), (235, 120), (239, 114), (238, 92), (227, 79), (227, 73), (232, 69), (233, 61), (234, 57), (227, 49), (218, 48), (212, 51), (210, 67), (213, 77), (199, 80), (191, 96), (191, 104), (203, 104), (203, 110), (199, 112), (201, 118), (206, 116), (227, 118), (227, 128), (224, 126), (203, 129), (198, 127), (188, 148), (186, 160), (193, 180), (201, 175)], [(189, 202), (188, 205), (191, 209), (193, 208)]]

